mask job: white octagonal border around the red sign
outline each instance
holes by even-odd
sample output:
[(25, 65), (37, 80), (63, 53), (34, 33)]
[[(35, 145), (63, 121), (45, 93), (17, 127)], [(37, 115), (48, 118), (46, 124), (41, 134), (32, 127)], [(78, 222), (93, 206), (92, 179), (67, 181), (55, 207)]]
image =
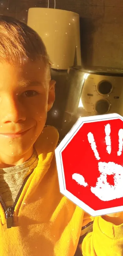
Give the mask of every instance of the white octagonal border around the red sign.
[(55, 150), (56, 156), (56, 166), (58, 172), (58, 179), (59, 179), (59, 186), (60, 186), (60, 193), (62, 193), (65, 197), (71, 200), (74, 204), (78, 205), (78, 207), (82, 208), (84, 211), (89, 213), (89, 215), (95, 217), (99, 215), (106, 215), (114, 212), (123, 211), (123, 205), (118, 207), (106, 208), (101, 210), (93, 210), (87, 204), (79, 200), (75, 197), (72, 193), (67, 191), (66, 184), (65, 184), (65, 177), (64, 177), (64, 170), (63, 170), (63, 161), (62, 161), (62, 151), (66, 148), (66, 146), (70, 143), (79, 129), (85, 123), (91, 122), (98, 122), (98, 121), (106, 121), (106, 120), (114, 120), (114, 119), (121, 119), (123, 121), (123, 117), (119, 114), (105, 114), (105, 115), (97, 115), (97, 116), (90, 116), (90, 117), (80, 117), (78, 118), (77, 122), (71, 128), (70, 132), (64, 137), (64, 139), (60, 142), (58, 147)]

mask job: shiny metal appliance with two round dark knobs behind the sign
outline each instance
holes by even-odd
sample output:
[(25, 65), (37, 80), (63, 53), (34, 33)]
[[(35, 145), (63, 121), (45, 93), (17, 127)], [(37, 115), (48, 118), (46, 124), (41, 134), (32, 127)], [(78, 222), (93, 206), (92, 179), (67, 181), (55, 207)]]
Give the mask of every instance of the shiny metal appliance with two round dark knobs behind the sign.
[(67, 97), (59, 128), (62, 137), (79, 117), (106, 113), (123, 116), (122, 69), (70, 67), (64, 88), (67, 88)]

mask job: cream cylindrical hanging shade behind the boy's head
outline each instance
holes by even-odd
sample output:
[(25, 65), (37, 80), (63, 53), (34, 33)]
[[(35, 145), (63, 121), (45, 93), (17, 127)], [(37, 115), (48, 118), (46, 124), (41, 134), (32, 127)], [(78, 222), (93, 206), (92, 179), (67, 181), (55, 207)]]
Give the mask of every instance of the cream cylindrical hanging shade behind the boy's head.
[(79, 15), (74, 12), (30, 8), (27, 25), (42, 38), (52, 68), (67, 70), (70, 66), (81, 65)]

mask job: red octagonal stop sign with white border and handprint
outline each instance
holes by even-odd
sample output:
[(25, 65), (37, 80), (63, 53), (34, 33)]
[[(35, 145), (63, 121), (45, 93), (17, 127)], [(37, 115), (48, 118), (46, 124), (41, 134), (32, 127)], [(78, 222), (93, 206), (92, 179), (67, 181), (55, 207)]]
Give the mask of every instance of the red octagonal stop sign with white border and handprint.
[(92, 216), (123, 211), (123, 117), (81, 117), (55, 150), (60, 192)]

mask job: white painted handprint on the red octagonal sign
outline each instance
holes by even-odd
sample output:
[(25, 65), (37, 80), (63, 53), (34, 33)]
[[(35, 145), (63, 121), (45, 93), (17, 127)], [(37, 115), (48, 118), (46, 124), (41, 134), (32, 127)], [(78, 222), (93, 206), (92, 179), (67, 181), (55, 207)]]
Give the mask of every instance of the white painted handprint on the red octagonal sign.
[[(105, 141), (107, 145), (107, 153), (111, 153), (111, 139), (110, 139), (110, 124), (105, 126)], [(120, 156), (123, 149), (123, 129), (118, 132), (119, 136), (119, 150), (117, 155)], [(94, 152), (97, 160), (100, 159), (99, 153), (97, 151), (96, 143), (91, 132), (88, 133), (88, 141)], [(100, 177), (97, 179), (96, 186), (91, 187), (91, 192), (96, 195), (99, 199), (103, 201), (110, 201), (116, 198), (123, 197), (123, 166), (115, 164), (114, 162), (98, 162)], [(114, 186), (107, 182), (107, 175), (114, 175)], [(72, 178), (81, 186), (88, 186), (82, 175), (74, 173)]]

